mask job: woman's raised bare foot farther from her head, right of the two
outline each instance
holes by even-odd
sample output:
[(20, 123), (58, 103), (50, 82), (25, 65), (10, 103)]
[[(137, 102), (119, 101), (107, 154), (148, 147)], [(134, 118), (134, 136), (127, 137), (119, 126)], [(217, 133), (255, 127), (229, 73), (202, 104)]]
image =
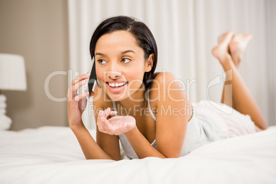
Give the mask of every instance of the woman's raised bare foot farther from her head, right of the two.
[(238, 68), (244, 50), (246, 49), (247, 44), (251, 41), (252, 34), (235, 34), (229, 43), (229, 50), (235, 67)]

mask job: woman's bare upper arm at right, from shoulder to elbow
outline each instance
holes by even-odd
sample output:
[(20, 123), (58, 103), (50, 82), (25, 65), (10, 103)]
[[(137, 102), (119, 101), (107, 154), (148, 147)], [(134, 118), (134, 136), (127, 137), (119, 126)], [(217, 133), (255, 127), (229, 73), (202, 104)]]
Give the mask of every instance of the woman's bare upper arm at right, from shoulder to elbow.
[(165, 72), (155, 76), (150, 88), (150, 100), (157, 112), (157, 148), (165, 157), (181, 155), (187, 122), (192, 117), (183, 84), (173, 73)]

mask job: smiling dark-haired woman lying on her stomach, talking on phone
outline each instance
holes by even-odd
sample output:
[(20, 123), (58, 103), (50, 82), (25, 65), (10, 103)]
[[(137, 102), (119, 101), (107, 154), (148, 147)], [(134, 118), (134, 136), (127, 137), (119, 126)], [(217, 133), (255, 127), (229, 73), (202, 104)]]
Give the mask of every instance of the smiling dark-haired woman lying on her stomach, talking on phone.
[[(172, 73), (154, 73), (157, 45), (144, 23), (126, 16), (100, 23), (90, 44), (98, 80), (91, 94), (97, 142), (82, 123), (88, 93), (77, 93), (89, 74), (73, 80), (67, 94), (69, 126), (85, 157), (119, 160), (119, 140), (130, 159), (181, 157), (211, 141), (265, 130), (260, 109), (238, 73), (250, 39), (227, 32), (212, 51), (226, 73), (218, 109), (208, 101), (191, 104)], [(231, 115), (225, 113), (229, 110)]]

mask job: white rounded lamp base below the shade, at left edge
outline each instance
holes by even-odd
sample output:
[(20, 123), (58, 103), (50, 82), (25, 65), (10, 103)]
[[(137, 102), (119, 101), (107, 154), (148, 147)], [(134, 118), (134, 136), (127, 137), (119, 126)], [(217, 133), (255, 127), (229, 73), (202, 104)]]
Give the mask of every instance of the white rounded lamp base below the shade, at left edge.
[(5, 95), (0, 94), (0, 130), (8, 130), (12, 124), (12, 119), (5, 115)]

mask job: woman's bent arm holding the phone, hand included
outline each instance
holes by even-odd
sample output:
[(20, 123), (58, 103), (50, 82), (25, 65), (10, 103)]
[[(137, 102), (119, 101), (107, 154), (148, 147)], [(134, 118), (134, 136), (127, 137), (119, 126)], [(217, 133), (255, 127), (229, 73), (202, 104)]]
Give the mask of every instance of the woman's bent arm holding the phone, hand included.
[[(85, 79), (89, 76), (79, 76), (71, 82), (71, 86), (67, 93), (67, 111), (69, 126), (76, 135), (82, 152), (87, 159), (114, 159), (119, 160), (119, 141), (115, 136), (100, 136), (100, 140), (105, 139), (106, 144), (101, 143), (100, 146), (91, 137), (87, 128), (82, 122), (82, 113), (87, 104), (87, 93), (77, 94), (77, 90), (85, 84)], [(95, 90), (97, 94), (97, 90)], [(97, 104), (97, 103), (96, 103)], [(97, 104), (99, 106), (99, 104)], [(97, 115), (95, 115), (97, 117)], [(97, 118), (96, 118), (97, 119)], [(98, 136), (97, 136), (98, 137)], [(100, 141), (101, 142), (101, 141)], [(116, 143), (117, 142), (117, 143)], [(101, 146), (103, 146), (101, 148)]]

